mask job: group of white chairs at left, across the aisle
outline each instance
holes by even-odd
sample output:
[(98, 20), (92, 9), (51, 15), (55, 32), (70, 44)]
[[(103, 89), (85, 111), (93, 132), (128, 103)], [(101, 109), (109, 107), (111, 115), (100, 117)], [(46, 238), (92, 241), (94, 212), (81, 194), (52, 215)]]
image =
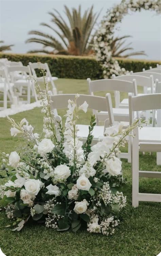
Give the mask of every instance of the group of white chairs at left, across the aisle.
[[(51, 76), (47, 63), (40, 65), (46, 72), (46, 81), (51, 83), (53, 94), (57, 94), (54, 81), (58, 78)], [(43, 83), (42, 77), (37, 76), (37, 69), (39, 69), (38, 63), (30, 62), (28, 66), (23, 66), (22, 62), (11, 62), (7, 59), (0, 59), (0, 92), (3, 93), (3, 100), (1, 101), (3, 102), (3, 106), (1, 109), (6, 109), (7, 103), (18, 103), (18, 99), (24, 96), (24, 91), (27, 100), (23, 100), (22, 103), (30, 103), (31, 97), (37, 101), (35, 80), (37, 83)]]

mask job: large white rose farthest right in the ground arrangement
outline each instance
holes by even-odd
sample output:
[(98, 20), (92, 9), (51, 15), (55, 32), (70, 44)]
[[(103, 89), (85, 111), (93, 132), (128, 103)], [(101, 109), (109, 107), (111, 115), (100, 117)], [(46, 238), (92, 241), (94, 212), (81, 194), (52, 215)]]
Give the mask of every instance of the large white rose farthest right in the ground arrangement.
[(107, 160), (105, 165), (106, 165), (107, 172), (109, 172), (111, 175), (117, 176), (117, 175), (121, 174), (122, 162), (120, 161), (120, 159), (118, 157), (114, 156), (114, 157), (110, 158), (109, 160)]

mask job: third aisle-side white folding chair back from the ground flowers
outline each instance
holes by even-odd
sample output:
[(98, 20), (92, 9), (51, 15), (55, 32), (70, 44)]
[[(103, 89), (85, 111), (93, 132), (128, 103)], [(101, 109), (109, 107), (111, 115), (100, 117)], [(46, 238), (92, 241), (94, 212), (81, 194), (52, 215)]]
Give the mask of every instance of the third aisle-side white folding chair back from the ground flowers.
[[(136, 80), (137, 86), (142, 86), (143, 87), (143, 91), (144, 93), (153, 93), (154, 92), (154, 79), (153, 76), (150, 75), (149, 77), (147, 76), (141, 76), (141, 75), (135, 75), (131, 74), (131, 75), (119, 75), (119, 76), (115, 76), (115, 74), (112, 75), (112, 79), (118, 79), (118, 80), (124, 80), (124, 81), (129, 81), (132, 82), (133, 79)], [(119, 107), (128, 107), (128, 98), (127, 99), (123, 99), (120, 102), (120, 92), (117, 92), (117, 105)], [(138, 96), (142, 95), (142, 93), (138, 93)]]

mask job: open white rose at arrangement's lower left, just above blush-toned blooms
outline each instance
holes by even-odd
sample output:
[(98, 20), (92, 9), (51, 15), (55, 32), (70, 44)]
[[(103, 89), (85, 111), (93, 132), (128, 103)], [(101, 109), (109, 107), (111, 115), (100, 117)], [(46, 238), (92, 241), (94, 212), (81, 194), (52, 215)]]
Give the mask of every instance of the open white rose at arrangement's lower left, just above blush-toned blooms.
[(40, 191), (41, 186), (42, 186), (42, 183), (40, 180), (33, 180), (33, 179), (29, 179), (24, 184), (26, 193), (28, 193), (29, 195), (37, 195), (38, 192)]

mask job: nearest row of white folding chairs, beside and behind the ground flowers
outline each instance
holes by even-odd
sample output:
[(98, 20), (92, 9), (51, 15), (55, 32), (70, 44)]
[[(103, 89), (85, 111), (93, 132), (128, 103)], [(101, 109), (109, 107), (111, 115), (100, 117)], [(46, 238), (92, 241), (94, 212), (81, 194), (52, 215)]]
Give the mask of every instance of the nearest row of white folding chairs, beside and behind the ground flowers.
[[(64, 94), (51, 96), (51, 107), (55, 113), (55, 125), (57, 127), (57, 121), (61, 121), (61, 117), (57, 113), (57, 109), (67, 108), (68, 100), (74, 100), (75, 95)], [(148, 94), (142, 96), (133, 96), (132, 93), (128, 95), (129, 99), (129, 116), (130, 124), (133, 121), (133, 116), (136, 111), (150, 110), (150, 109), (161, 109), (161, 93)], [(110, 93), (106, 94), (106, 97), (92, 96), (92, 95), (80, 95), (77, 99), (77, 104), (81, 105), (86, 101), (89, 108), (94, 111), (108, 112), (110, 119), (105, 120), (104, 126), (96, 125), (93, 129), (94, 140), (96, 143), (99, 137), (103, 135), (105, 128), (109, 125), (114, 125), (114, 115), (112, 111), (112, 102)], [(88, 125), (78, 125), (78, 136), (85, 141), (88, 136)], [(140, 171), (139, 170), (139, 151), (151, 151), (161, 152), (161, 135), (160, 127), (143, 127), (141, 130), (136, 128), (133, 133), (134, 137), (130, 136), (131, 139), (131, 157), (132, 157), (132, 206), (137, 207), (139, 201), (153, 201), (161, 202), (161, 194), (149, 194), (139, 193), (139, 177), (155, 177), (161, 178), (161, 172), (154, 171)], [(149, 139), (145, 134), (149, 134)], [(57, 136), (59, 135), (59, 128), (57, 127)]]

